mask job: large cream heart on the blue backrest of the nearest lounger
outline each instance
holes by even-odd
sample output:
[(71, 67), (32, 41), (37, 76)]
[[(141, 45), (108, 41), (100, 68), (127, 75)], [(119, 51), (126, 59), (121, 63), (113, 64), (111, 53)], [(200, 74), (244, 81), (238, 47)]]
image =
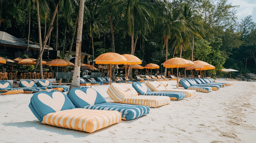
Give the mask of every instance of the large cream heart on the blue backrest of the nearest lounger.
[(53, 98), (45, 93), (40, 93), (37, 98), (45, 105), (53, 108), (56, 112), (61, 110), (65, 102), (65, 97), (61, 92), (53, 92)]

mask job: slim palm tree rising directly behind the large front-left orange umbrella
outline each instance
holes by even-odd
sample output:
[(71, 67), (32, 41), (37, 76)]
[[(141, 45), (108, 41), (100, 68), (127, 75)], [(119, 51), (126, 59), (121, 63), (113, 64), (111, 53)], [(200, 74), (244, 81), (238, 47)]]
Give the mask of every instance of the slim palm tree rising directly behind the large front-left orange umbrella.
[(115, 19), (122, 12), (122, 1), (106, 0), (103, 2), (102, 11), (107, 13), (110, 22), (111, 50), (115, 52)]

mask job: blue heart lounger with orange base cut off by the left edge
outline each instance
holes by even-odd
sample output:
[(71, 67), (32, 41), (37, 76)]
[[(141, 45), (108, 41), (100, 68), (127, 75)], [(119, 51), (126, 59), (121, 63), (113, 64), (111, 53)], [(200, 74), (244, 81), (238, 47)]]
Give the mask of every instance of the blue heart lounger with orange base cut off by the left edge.
[(24, 90), (12, 88), (12, 85), (9, 81), (0, 80), (0, 95), (9, 95), (9, 94), (18, 94), (18, 93), (24, 93)]

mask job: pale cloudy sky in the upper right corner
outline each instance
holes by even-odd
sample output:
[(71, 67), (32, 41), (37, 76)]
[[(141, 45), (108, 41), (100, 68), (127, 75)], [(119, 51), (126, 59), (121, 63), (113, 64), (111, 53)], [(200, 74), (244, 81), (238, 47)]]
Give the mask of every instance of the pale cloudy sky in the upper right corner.
[(247, 15), (251, 15), (253, 22), (256, 23), (256, 0), (227, 0), (227, 2), (232, 3), (233, 6), (240, 6), (236, 14), (239, 22)]

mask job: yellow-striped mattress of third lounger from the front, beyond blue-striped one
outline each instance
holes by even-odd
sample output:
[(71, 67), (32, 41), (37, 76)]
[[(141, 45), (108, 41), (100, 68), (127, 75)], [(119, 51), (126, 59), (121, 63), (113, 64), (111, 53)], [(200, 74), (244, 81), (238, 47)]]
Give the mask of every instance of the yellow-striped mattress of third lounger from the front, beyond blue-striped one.
[[(111, 84), (112, 85), (112, 84)], [(170, 103), (170, 98), (167, 96), (144, 96), (124, 98), (125, 104), (144, 105), (149, 107), (159, 107)]]

